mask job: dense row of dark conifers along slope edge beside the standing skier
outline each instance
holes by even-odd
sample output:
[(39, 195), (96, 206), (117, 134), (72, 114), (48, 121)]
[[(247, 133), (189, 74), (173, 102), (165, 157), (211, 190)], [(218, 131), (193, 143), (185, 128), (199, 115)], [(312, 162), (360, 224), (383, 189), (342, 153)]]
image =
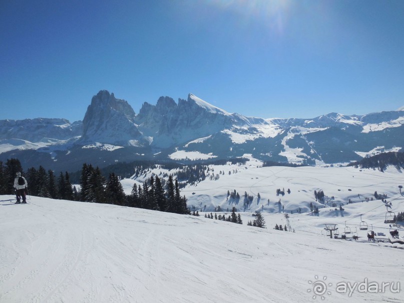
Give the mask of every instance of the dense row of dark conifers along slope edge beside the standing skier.
[(181, 196), (177, 179), (168, 177), (168, 182), (158, 176), (152, 176), (142, 186), (133, 185), (130, 195), (126, 195), (119, 177), (110, 173), (105, 178), (101, 170), (91, 164), (83, 164), (80, 175), (80, 189), (72, 185), (68, 172), (60, 172), (57, 177), (52, 170), (42, 166), (34, 167), (24, 173), (18, 159), (7, 160), (5, 165), (0, 161), (0, 194), (14, 194), (14, 179), (21, 172), (27, 179), (29, 194), (52, 199), (63, 199), (82, 202), (109, 203), (121, 206), (138, 207), (189, 214), (187, 199)]

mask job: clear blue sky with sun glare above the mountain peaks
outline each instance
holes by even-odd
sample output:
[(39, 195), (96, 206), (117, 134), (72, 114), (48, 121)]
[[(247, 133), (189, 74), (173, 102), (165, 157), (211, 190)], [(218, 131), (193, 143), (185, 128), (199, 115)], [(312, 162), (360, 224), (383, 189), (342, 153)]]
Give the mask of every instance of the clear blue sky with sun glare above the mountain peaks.
[(0, 2), (0, 119), (188, 93), (262, 118), (404, 105), (404, 1)]

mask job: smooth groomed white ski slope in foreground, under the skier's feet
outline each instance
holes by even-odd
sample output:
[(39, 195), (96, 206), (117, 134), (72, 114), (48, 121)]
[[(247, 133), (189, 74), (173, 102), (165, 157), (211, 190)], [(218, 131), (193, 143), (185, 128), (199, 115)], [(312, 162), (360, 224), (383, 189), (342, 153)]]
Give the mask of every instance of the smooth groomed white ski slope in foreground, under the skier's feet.
[[(293, 233), (272, 228), (285, 224), (278, 213), (264, 212), (268, 228), (263, 229), (246, 225), (253, 219), (248, 212), (240, 225), (203, 213), (33, 196), (29, 204), (16, 205), (13, 199), (0, 196), (0, 302), (281, 303), (322, 301), (321, 296), (327, 302), (398, 302), (404, 297), (401, 245), (319, 235), (322, 223), (348, 218), (357, 223), (357, 213), (380, 201), (348, 205), (346, 218), (291, 215)], [(404, 209), (402, 197), (394, 207)], [(382, 215), (383, 209), (375, 208), (366, 219), (374, 216), (368, 223), (376, 222)], [(375, 293), (337, 291), (340, 282), (365, 279), (395, 284)], [(323, 281), (326, 291), (320, 294), (315, 285)]]

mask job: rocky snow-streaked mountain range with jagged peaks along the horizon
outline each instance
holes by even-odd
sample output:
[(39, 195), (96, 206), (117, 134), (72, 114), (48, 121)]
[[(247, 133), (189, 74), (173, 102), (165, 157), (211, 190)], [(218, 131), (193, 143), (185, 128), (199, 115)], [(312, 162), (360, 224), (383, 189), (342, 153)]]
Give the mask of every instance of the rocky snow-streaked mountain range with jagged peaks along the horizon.
[(230, 114), (189, 94), (160, 97), (136, 114), (127, 101), (100, 91), (83, 121), (0, 120), (0, 160), (23, 167), (73, 171), (84, 162), (104, 167), (134, 160), (227, 159), (251, 154), (264, 161), (326, 165), (402, 151), (404, 111), (311, 119)]

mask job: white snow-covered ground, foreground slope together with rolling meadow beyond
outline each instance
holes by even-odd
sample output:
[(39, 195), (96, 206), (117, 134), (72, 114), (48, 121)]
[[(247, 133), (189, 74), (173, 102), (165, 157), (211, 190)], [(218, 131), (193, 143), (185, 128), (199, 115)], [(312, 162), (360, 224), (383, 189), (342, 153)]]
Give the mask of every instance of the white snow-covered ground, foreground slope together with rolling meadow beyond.
[[(359, 230), (362, 214), (368, 230), (387, 238), (384, 204), (359, 200), (376, 190), (388, 196), (392, 211), (404, 211), (397, 187), (402, 173), (259, 164), (251, 159), (211, 167), (215, 175), (225, 173), (182, 190), (191, 208), (206, 205), (214, 213), (221, 206), (226, 216), (227, 207), (242, 205), (242, 199), (229, 204), (227, 190), (254, 195), (240, 212), (242, 225), (205, 218), (204, 212), (196, 217), (33, 196), (29, 204), (15, 205), (14, 196), (0, 196), (0, 302), (402, 301), (404, 249), (398, 248), (404, 245), (368, 242), (367, 231)], [(130, 193), (141, 181), (122, 184)], [(276, 196), (277, 188), (291, 193)], [(354, 203), (342, 213), (321, 208), (314, 189), (336, 203)], [(279, 198), (295, 232), (273, 229), (286, 223), (275, 204)], [(310, 202), (319, 216), (310, 214)], [(294, 211), (298, 207), (302, 213)], [(267, 228), (247, 226), (255, 210)], [(322, 236), (325, 223), (340, 232), (349, 227), (359, 239)], [(402, 226), (394, 228), (404, 234)]]

